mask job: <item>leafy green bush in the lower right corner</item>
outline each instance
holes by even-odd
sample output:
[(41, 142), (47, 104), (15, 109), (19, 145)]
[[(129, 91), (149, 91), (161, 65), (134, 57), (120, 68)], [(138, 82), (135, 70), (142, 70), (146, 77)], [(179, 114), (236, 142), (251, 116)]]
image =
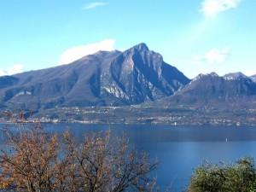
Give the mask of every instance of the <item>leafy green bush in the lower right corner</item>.
[(256, 169), (253, 159), (238, 160), (234, 165), (205, 163), (191, 178), (189, 192), (255, 192)]

